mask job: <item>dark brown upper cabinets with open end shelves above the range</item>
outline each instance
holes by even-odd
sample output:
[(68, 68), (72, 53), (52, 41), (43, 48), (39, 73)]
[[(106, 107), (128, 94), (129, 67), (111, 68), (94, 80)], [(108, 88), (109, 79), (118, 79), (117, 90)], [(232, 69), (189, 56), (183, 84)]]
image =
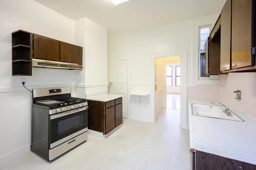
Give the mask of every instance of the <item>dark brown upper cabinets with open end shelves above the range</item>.
[[(65, 63), (62, 63), (59, 68), (82, 70), (83, 47), (28, 31), (14, 31), (12, 33), (12, 75), (31, 76), (33, 59), (46, 60), (47, 64), (49, 64), (48, 61), (61, 61)], [(42, 67), (46, 67), (44, 64)], [(52, 68), (53, 65), (50, 66)]]

